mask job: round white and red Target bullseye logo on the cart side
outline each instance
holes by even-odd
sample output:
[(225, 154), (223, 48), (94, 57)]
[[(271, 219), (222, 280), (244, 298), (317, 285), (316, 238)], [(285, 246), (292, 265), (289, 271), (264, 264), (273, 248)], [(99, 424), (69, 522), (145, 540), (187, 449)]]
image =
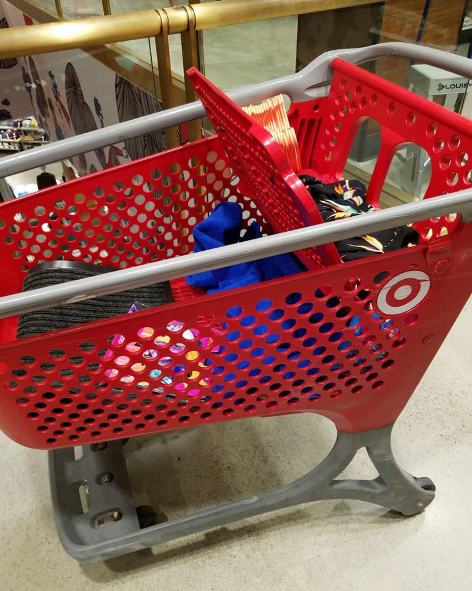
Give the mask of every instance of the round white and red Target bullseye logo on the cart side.
[(405, 271), (395, 275), (379, 291), (377, 308), (394, 316), (412, 310), (428, 295), (431, 280), (423, 271)]

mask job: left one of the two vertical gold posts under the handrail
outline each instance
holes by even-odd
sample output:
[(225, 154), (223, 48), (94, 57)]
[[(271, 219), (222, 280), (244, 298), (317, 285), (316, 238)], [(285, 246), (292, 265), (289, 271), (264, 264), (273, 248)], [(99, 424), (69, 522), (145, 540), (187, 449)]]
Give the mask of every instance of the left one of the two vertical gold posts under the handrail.
[[(161, 87), (161, 101), (164, 109), (171, 109), (175, 106), (174, 85), (172, 84), (171, 56), (169, 51), (169, 21), (164, 9), (157, 11), (161, 18), (161, 34), (155, 37), (157, 53), (157, 69), (159, 73), (159, 86)], [(151, 56), (152, 59), (152, 56)], [(177, 128), (169, 127), (165, 130), (167, 148), (178, 146)]]

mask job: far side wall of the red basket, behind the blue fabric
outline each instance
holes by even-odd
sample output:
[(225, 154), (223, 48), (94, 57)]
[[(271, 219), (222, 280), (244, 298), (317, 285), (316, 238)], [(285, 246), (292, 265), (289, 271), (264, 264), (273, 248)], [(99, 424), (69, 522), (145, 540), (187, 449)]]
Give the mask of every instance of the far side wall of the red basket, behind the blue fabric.
[(222, 200), (238, 201), (243, 228), (272, 232), (218, 138), (204, 139), (4, 203), (0, 241), (4, 294), (21, 291), (41, 261), (76, 260), (125, 268), (193, 250), (193, 227)]

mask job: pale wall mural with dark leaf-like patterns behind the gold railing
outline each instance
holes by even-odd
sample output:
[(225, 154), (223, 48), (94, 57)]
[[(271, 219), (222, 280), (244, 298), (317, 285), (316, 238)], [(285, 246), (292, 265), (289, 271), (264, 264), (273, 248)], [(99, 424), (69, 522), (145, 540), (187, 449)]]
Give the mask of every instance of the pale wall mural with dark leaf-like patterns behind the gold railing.
[[(0, 0), (0, 28), (31, 22)], [(154, 97), (79, 50), (0, 60), (0, 120), (34, 115), (51, 141), (162, 110)], [(6, 96), (8, 95), (8, 96)], [(2, 102), (6, 105), (6, 102)], [(147, 134), (71, 158), (81, 175), (165, 150), (164, 132)]]

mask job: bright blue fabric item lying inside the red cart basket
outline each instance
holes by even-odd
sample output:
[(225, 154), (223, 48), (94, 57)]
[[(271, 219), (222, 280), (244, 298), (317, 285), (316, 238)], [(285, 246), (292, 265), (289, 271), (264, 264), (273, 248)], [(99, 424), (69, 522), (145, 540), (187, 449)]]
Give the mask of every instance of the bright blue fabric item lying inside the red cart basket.
[[(258, 222), (252, 222), (242, 238), (242, 209), (237, 203), (219, 203), (203, 222), (193, 230), (194, 252), (207, 251), (219, 246), (261, 238)], [(255, 248), (256, 245), (255, 245)], [(305, 267), (291, 254), (269, 256), (259, 261), (244, 262), (214, 271), (205, 271), (185, 277), (187, 283), (202, 287), (207, 293), (216, 293), (293, 275)]]

